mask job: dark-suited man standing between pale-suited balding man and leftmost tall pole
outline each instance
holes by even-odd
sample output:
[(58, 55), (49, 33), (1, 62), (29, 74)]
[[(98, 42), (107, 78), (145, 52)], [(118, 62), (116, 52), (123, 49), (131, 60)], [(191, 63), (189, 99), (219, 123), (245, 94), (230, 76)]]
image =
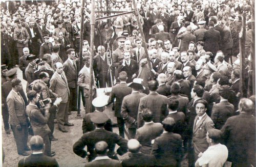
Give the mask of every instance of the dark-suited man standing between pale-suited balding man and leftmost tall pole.
[(77, 66), (75, 49), (68, 49), (67, 54), (68, 60), (63, 63), (63, 72), (67, 76), (70, 97), (72, 97), (69, 102), (69, 114), (71, 114), (71, 111), (77, 110)]

